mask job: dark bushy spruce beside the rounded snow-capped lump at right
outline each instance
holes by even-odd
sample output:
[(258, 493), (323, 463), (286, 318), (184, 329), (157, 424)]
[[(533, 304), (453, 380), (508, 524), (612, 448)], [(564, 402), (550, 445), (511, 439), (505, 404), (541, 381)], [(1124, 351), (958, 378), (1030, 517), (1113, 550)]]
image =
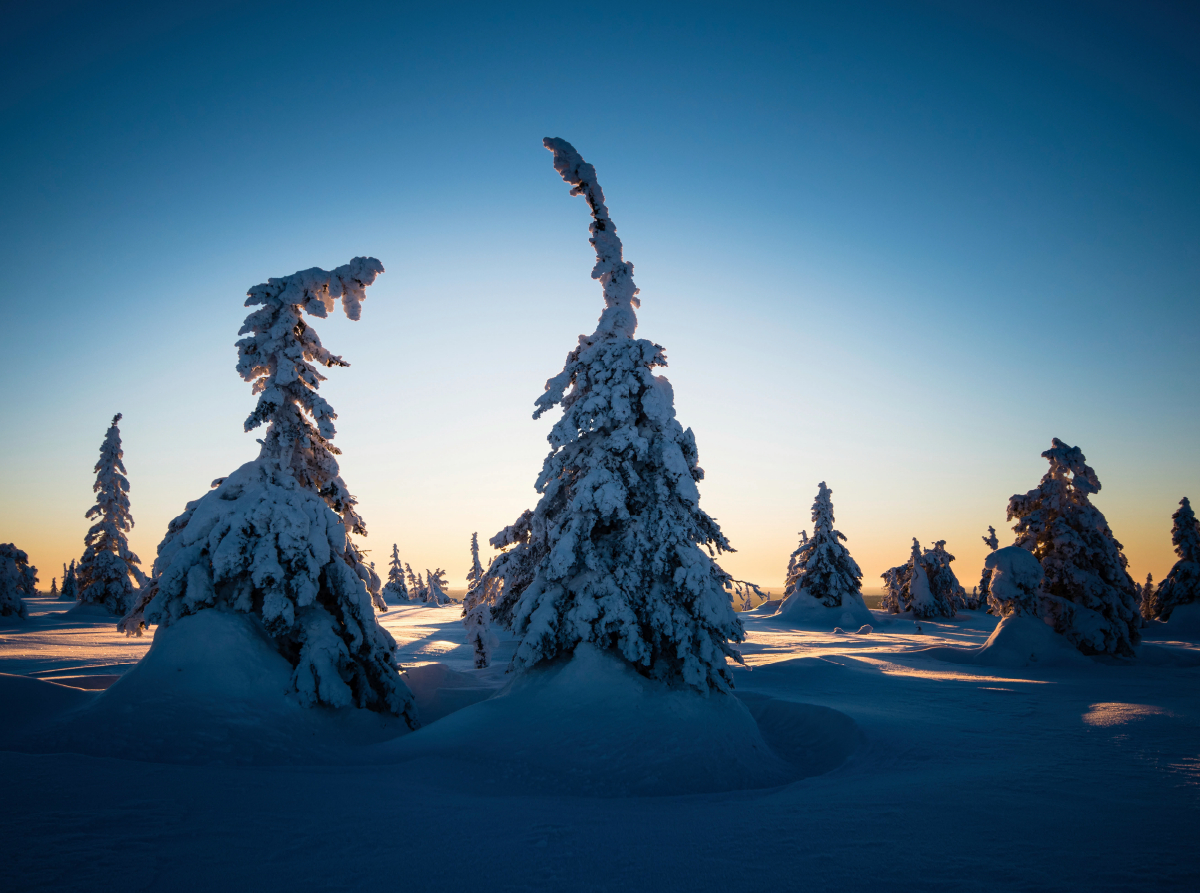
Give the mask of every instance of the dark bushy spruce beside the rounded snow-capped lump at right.
[(1043, 619), (1085, 654), (1133, 657), (1141, 616), (1121, 544), (1088, 501), (1099, 478), (1078, 446), (1057, 437), (1042, 456), (1050, 471), (1008, 501), (1016, 543), (1042, 563)]

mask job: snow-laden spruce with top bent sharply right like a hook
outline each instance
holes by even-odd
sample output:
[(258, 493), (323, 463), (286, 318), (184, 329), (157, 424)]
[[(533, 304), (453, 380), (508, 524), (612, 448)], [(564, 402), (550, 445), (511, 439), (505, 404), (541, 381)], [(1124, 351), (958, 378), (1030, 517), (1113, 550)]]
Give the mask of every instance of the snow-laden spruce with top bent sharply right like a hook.
[[(316, 365), (346, 366), (304, 313), (324, 317), (338, 298), (358, 319), (364, 289), (383, 266), (354, 258), (332, 271), (302, 270), (250, 289), (238, 371), (258, 404), (246, 430), (266, 424), (258, 459), (187, 504), (158, 546), (145, 621), (170, 625), (205, 609), (245, 612), (294, 667), (305, 705), (356, 706), (416, 725), (396, 643), (376, 619), (361, 555), (365, 533), (338, 473), (336, 414), (318, 394)], [(126, 628), (137, 618), (127, 617)]]

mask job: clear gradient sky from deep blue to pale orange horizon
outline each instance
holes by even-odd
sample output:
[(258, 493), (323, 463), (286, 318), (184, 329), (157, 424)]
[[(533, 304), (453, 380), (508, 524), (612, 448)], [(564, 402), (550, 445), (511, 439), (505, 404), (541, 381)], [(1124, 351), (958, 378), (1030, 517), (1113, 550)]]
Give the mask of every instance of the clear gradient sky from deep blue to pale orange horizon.
[(43, 586), (110, 416), (149, 567), (257, 453), (246, 289), (356, 254), (386, 268), (361, 322), (317, 322), (352, 364), (322, 388), (342, 473), (380, 565), (397, 541), (461, 586), (472, 531), (534, 504), (533, 401), (602, 306), (545, 136), (596, 167), (734, 576), (780, 586), (824, 480), (868, 592), (912, 537), (970, 588), (1055, 436), (1134, 576), (1174, 562), (1194, 5), (26, 6), (0, 28), (0, 541)]

